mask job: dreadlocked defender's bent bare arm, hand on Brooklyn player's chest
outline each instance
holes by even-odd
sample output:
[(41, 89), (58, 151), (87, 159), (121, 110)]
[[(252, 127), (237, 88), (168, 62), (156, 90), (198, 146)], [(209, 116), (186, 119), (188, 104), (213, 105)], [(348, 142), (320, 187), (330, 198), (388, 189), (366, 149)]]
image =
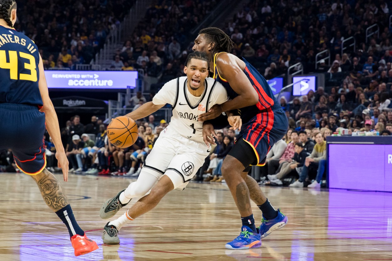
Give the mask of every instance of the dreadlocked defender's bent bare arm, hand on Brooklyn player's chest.
[(229, 82), (230, 87), (238, 94), (233, 100), (221, 105), (214, 105), (211, 109), (199, 116), (200, 121), (211, 120), (224, 111), (232, 111), (258, 103), (259, 96), (248, 77), (241, 70), (236, 61), (236, 56), (223, 53), (216, 60), (220, 75)]

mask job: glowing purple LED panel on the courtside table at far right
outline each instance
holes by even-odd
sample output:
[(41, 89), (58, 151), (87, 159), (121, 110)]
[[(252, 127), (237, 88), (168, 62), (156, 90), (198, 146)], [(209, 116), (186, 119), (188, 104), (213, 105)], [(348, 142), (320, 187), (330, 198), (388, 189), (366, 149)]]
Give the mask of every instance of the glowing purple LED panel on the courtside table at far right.
[(392, 145), (329, 144), (330, 188), (392, 192)]

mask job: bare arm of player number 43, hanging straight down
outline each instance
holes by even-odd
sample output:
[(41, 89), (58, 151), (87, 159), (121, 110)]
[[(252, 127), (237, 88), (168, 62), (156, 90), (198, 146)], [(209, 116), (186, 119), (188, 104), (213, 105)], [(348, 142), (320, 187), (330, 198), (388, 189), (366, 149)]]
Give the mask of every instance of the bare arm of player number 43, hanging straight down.
[(61, 142), (60, 126), (58, 125), (58, 118), (54, 106), (49, 98), (48, 86), (45, 78), (44, 64), (40, 56), (40, 62), (38, 64), (38, 70), (40, 72), (40, 79), (38, 87), (44, 106), (40, 109), (41, 112), (45, 112), (45, 124), (46, 129), (49, 132), (53, 140), (54, 147), (56, 147), (56, 159), (58, 161), (58, 167), (62, 168), (64, 181), (68, 181), (68, 159), (65, 155), (65, 150)]

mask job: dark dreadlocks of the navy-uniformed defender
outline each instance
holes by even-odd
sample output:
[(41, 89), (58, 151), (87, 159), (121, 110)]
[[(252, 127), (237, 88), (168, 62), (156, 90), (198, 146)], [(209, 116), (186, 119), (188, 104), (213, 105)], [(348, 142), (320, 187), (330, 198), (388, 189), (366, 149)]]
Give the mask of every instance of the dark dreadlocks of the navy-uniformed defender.
[(233, 49), (234, 42), (230, 39), (230, 37), (225, 34), (221, 29), (216, 27), (208, 27), (201, 29), (199, 34), (204, 34), (205, 37), (214, 42), (214, 48), (211, 50), (212, 54), (218, 52), (227, 52), (230, 53)]

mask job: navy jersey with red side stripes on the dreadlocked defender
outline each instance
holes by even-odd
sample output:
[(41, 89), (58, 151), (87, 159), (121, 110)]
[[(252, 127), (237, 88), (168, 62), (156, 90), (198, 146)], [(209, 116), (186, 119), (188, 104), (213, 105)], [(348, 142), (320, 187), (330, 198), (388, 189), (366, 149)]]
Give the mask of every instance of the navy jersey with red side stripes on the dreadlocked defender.
[[(214, 55), (214, 76), (213, 78), (220, 82), (226, 89), (227, 94), (230, 99), (234, 99), (238, 96), (238, 94), (231, 88), (230, 84), (220, 76), (218, 71), (218, 67), (216, 67), (216, 58), (220, 53), (216, 53)], [(256, 105), (248, 106), (241, 108), (239, 111), (241, 112), (241, 118), (243, 122), (249, 121), (253, 116), (260, 113), (261, 111), (268, 110), (274, 105), (278, 105), (278, 100), (276, 100), (274, 94), (272, 93), (267, 80), (244, 58), (240, 57), (240, 59), (245, 62), (244, 73), (248, 77), (250, 83), (252, 83), (254, 89), (257, 91), (259, 96), (259, 101)]]

